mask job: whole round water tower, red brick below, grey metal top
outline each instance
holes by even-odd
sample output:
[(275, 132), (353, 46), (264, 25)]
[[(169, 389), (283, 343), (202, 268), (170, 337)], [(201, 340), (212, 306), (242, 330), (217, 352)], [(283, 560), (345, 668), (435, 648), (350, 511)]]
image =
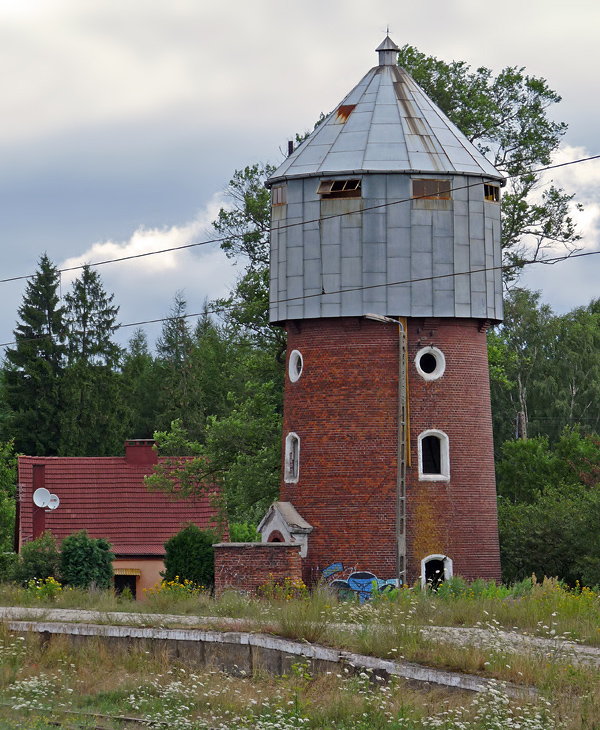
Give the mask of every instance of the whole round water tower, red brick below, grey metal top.
[(386, 37), (267, 183), (280, 498), (307, 579), (334, 561), (499, 579), (486, 330), (502, 319), (502, 176), (397, 51)]

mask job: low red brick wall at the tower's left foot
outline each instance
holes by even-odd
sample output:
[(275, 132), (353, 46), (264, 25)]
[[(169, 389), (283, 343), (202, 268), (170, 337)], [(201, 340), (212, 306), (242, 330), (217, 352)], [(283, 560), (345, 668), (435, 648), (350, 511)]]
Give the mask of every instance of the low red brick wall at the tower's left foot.
[(215, 593), (234, 588), (254, 594), (269, 580), (302, 578), (300, 545), (281, 542), (215, 545)]

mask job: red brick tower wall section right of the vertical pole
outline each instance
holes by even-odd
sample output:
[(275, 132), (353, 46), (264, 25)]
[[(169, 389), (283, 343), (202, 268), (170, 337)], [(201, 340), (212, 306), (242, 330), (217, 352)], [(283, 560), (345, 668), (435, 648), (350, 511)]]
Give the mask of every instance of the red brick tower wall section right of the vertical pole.
[[(408, 372), (412, 467), (407, 470), (408, 561), (413, 577), (423, 557), (447, 554), (454, 573), (500, 580), (498, 518), (490, 383), (485, 332), (477, 320), (408, 322)], [(426, 337), (425, 337), (426, 335)], [(439, 348), (446, 371), (426, 381), (414, 360), (427, 345)], [(429, 428), (447, 434), (450, 481), (420, 482), (418, 435)]]

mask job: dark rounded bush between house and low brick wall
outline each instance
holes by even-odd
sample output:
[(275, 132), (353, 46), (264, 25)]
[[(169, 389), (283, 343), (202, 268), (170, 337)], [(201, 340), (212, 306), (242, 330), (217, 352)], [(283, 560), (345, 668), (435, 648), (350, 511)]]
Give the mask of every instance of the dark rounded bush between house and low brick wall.
[(165, 572), (168, 583), (176, 579), (193, 581), (197, 586), (212, 588), (215, 582), (215, 550), (217, 536), (212, 530), (201, 530), (190, 523), (165, 543)]

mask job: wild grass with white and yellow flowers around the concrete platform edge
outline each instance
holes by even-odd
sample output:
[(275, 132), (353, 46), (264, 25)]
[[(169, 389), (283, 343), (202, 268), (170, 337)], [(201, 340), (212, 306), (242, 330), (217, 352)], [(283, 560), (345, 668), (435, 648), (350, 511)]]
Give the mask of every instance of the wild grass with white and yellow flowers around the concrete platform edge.
[[(581, 663), (560, 643), (570, 638), (600, 644), (600, 599), (592, 590), (568, 590), (551, 580), (530, 581), (512, 590), (454, 580), (437, 594), (403, 590), (361, 605), (340, 603), (326, 590), (308, 596), (296, 586), (272, 588), (269, 598), (232, 593), (215, 601), (173, 585), (143, 603), (133, 603), (119, 602), (110, 594), (64, 589), (52, 598), (7, 586), (0, 591), (0, 604), (172, 613), (198, 616), (199, 624), (202, 616), (215, 617), (217, 623), (236, 618), (240, 628), (417, 661), (497, 682), (484, 693), (469, 695), (417, 689), (403, 681), (386, 685), (368, 674), (353, 677), (343, 670), (340, 675), (317, 675), (303, 662), (287, 677), (231, 677), (215, 670), (191, 671), (144, 652), (108, 652), (100, 641), (74, 650), (59, 640), (44, 650), (33, 637), (18, 639), (4, 629), (0, 728), (50, 727), (44, 719), (69, 727), (136, 726), (111, 719), (117, 716), (173, 728), (600, 727), (600, 671)], [(487, 639), (457, 645), (438, 636), (432, 628), (436, 626), (483, 627)], [(515, 647), (502, 629), (550, 642), (543, 649)], [(505, 682), (524, 690), (532, 687), (536, 694), (532, 699), (524, 692), (528, 699), (509, 700)]]

